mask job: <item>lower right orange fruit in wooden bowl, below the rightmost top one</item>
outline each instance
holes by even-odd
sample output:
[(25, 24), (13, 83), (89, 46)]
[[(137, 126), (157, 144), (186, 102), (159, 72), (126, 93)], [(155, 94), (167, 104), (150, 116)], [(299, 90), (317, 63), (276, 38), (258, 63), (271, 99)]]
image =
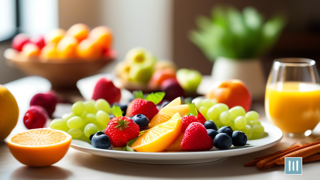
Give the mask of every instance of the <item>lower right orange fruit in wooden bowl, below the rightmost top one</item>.
[(77, 53), (79, 57), (84, 59), (97, 59), (101, 57), (102, 49), (92, 39), (84, 39), (79, 43)]

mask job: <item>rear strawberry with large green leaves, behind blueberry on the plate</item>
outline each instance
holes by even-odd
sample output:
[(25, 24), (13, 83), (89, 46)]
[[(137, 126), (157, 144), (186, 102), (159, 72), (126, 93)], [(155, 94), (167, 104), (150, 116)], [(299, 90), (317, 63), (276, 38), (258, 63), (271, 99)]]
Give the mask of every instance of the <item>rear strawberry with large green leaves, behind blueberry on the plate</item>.
[(144, 97), (141, 91), (134, 91), (133, 94), (136, 99), (132, 101), (130, 116), (143, 114), (151, 121), (151, 119), (159, 112), (156, 104), (162, 101), (165, 93), (151, 93), (146, 99), (143, 99)]

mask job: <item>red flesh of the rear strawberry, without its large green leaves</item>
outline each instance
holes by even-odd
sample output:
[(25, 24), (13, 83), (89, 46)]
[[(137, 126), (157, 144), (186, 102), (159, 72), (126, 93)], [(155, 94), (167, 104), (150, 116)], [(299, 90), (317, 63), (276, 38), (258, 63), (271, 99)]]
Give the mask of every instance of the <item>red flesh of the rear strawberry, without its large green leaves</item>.
[(150, 121), (159, 112), (155, 103), (147, 101), (145, 99), (134, 99), (131, 107), (130, 116), (137, 114), (145, 115)]

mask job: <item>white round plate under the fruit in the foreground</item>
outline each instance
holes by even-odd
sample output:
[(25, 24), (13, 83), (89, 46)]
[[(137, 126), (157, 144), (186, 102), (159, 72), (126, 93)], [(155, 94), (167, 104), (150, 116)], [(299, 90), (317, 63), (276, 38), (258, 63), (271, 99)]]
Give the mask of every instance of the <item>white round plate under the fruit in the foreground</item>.
[(147, 164), (195, 164), (211, 162), (223, 158), (261, 151), (279, 143), (283, 137), (282, 131), (271, 124), (261, 122), (265, 129), (265, 137), (249, 140), (243, 147), (232, 146), (228, 150), (210, 150), (198, 152), (129, 152), (104, 150), (92, 147), (91, 144), (80, 140), (72, 140), (71, 147), (94, 155), (115, 158), (117, 160), (147, 163)]

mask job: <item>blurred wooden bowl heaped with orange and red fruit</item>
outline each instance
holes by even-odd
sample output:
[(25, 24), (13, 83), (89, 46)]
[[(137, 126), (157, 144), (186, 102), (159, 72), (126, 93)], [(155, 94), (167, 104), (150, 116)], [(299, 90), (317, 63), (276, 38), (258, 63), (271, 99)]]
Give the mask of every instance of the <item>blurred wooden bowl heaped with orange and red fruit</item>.
[(8, 65), (47, 78), (55, 88), (75, 86), (77, 80), (98, 73), (116, 58), (112, 39), (106, 26), (90, 30), (79, 23), (67, 31), (53, 29), (45, 36), (18, 34), (4, 57)]

